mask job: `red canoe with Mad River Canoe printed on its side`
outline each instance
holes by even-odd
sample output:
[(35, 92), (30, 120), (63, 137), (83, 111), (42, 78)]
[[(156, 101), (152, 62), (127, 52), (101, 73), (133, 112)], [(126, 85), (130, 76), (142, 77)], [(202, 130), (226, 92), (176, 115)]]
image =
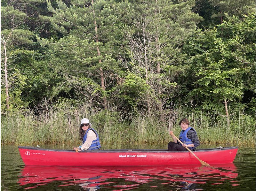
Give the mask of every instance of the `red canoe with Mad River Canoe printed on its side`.
[[(113, 149), (73, 150), (39, 149), (19, 146), (20, 156), (26, 165), (57, 166), (152, 166), (200, 164), (188, 151), (164, 149)], [(198, 149), (197, 157), (208, 164), (232, 163), (238, 147)]]

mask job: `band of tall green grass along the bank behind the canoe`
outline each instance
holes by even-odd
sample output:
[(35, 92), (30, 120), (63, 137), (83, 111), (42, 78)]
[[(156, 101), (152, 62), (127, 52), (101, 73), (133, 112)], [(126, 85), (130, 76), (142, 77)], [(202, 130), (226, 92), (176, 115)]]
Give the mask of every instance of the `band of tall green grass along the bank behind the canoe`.
[(117, 112), (89, 110), (88, 106), (78, 108), (71, 105), (46, 107), (39, 115), (33, 111), (17, 111), (2, 115), (2, 144), (81, 143), (78, 131), (81, 118), (89, 118), (92, 127), (100, 136), (101, 144), (124, 143), (167, 143), (172, 141), (169, 131), (176, 136), (181, 118), (188, 118), (198, 134), (201, 143), (255, 145), (255, 120), (242, 111), (234, 114), (227, 126), (225, 117), (183, 108), (173, 111), (159, 120), (159, 116), (147, 118), (133, 114), (124, 118)]

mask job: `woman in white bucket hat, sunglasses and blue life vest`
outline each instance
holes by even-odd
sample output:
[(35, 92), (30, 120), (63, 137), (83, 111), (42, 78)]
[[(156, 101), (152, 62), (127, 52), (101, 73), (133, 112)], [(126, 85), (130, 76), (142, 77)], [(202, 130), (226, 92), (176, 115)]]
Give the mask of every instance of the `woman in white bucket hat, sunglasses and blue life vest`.
[(92, 124), (89, 122), (89, 119), (83, 118), (80, 123), (79, 136), (80, 140), (83, 141), (83, 144), (79, 147), (75, 147), (74, 150), (93, 150), (100, 149), (100, 139), (96, 130), (91, 128)]

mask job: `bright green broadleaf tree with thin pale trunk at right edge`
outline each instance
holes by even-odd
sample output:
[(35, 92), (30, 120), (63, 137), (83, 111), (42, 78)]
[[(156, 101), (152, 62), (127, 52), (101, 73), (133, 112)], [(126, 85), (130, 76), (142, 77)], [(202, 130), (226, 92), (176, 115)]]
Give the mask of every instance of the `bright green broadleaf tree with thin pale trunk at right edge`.
[(196, 78), (187, 98), (196, 98), (207, 110), (218, 110), (224, 103), (229, 125), (228, 102), (240, 103), (249, 84), (255, 89), (255, 79), (248, 79), (248, 74), (255, 76), (255, 14), (242, 21), (228, 18), (220, 25), (223, 31), (214, 27), (190, 40), (190, 48), (197, 52), (191, 57)]

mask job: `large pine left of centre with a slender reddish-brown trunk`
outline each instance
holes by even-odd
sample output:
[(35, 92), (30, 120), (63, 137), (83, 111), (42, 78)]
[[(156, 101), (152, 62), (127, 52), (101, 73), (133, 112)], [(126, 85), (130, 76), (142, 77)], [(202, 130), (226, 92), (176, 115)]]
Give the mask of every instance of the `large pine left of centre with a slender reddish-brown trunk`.
[[(108, 109), (108, 90), (113, 87), (118, 71), (116, 53), (122, 39), (122, 17), (127, 11), (124, 2), (72, 1), (71, 6), (57, 1), (52, 17), (42, 17), (51, 22), (63, 37), (58, 41), (39, 38), (48, 45), (56, 58), (53, 67), (66, 78), (66, 87), (76, 90), (76, 96)], [(59, 87), (60, 91), (62, 87)]]

